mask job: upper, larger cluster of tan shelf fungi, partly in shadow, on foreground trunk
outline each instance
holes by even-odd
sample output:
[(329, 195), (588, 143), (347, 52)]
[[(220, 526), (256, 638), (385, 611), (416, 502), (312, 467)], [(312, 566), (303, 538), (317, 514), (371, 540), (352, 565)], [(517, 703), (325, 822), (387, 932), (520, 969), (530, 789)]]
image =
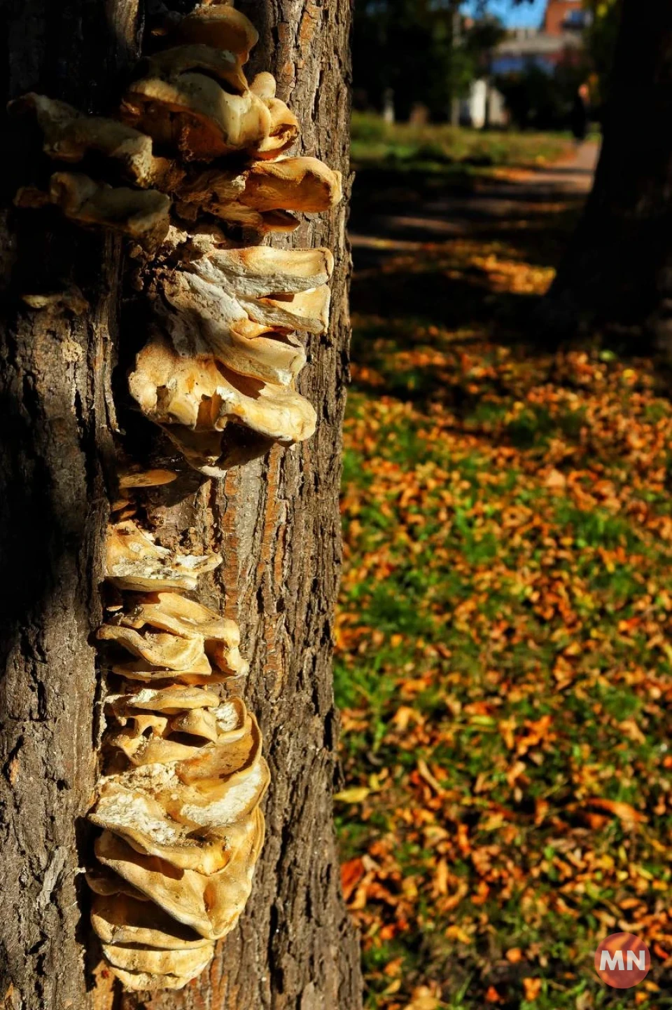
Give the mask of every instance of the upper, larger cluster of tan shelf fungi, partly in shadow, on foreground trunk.
[(256, 40), (233, 6), (202, 4), (140, 63), (118, 120), (33, 93), (12, 103), (34, 115), (50, 159), (90, 173), (54, 172), (17, 204), (120, 231), (149, 264), (151, 331), (130, 392), (210, 477), (313, 433), (295, 389), (306, 363), (296, 331), (323, 333), (329, 315), (329, 249), (258, 244), (294, 230), (296, 212), (334, 206), (341, 177), (285, 154), (299, 124), (270, 74), (248, 84)]

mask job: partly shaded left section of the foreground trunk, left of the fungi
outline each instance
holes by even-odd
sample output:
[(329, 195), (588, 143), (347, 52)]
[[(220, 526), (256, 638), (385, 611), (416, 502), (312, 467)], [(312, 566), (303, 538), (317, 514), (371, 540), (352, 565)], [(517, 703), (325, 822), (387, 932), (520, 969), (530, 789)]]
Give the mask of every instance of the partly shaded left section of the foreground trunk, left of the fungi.
[[(91, 109), (133, 55), (132, 4), (107, 18), (86, 0), (2, 0), (4, 101), (44, 90)], [(98, 14), (98, 16), (94, 16)], [(131, 16), (132, 15), (132, 16)], [(98, 82), (94, 86), (92, 82)], [(3, 102), (4, 107), (4, 102)], [(77, 874), (96, 780), (95, 650), (107, 504), (103, 462), (117, 243), (11, 210), (34, 180), (37, 143), (3, 126), (8, 177), (0, 247), (0, 996), (11, 1010), (89, 1006), (88, 932)], [(84, 314), (28, 309), (22, 295), (76, 284)], [(89, 952), (91, 948), (89, 948)]]

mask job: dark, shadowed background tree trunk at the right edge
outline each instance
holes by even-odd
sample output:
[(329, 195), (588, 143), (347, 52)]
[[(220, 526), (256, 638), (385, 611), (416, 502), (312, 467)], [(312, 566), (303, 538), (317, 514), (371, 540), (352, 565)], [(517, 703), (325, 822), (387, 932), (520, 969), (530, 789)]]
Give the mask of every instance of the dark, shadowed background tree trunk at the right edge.
[(672, 6), (624, 0), (593, 190), (545, 306), (560, 330), (585, 319), (672, 344), (670, 121)]

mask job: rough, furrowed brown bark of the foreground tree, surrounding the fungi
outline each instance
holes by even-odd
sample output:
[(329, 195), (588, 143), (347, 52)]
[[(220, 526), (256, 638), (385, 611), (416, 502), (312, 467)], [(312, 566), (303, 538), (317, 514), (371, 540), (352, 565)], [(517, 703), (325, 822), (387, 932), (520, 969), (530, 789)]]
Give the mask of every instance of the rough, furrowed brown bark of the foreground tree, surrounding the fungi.
[[(171, 6), (171, 5), (169, 5)], [(176, 2), (173, 6), (178, 7)], [(182, 4), (185, 9), (187, 4)], [(344, 0), (240, 4), (260, 30), (252, 63), (270, 70), (302, 123), (302, 150), (347, 172)], [(107, 111), (137, 54), (131, 0), (0, 0), (9, 75), (27, 90)], [(335, 254), (332, 325), (313, 338), (301, 389), (316, 435), (290, 451), (206, 481), (183, 501), (156, 500), (163, 542), (219, 549), (212, 603), (241, 625), (272, 787), (255, 886), (236, 931), (186, 990), (121, 994), (94, 973), (98, 951), (78, 867), (97, 775), (101, 685), (91, 635), (100, 621), (100, 550), (112, 467), (110, 372), (119, 328), (118, 245), (48, 214), (8, 209), (30, 181), (34, 145), (3, 192), (0, 305), (0, 551), (7, 605), (0, 709), (4, 914), (0, 997), (11, 1010), (356, 1010), (358, 947), (340, 896), (331, 792), (338, 720), (330, 653), (340, 560), (337, 494), (347, 370), (345, 209), (303, 224), (299, 245)], [(35, 312), (20, 295), (77, 284), (90, 309)], [(121, 337), (119, 335), (119, 329)], [(111, 349), (112, 348), (112, 349)], [(123, 359), (123, 352), (121, 354)], [(133, 452), (132, 427), (125, 448)], [(146, 446), (145, 446), (146, 447)], [(116, 985), (116, 984), (115, 984)]]

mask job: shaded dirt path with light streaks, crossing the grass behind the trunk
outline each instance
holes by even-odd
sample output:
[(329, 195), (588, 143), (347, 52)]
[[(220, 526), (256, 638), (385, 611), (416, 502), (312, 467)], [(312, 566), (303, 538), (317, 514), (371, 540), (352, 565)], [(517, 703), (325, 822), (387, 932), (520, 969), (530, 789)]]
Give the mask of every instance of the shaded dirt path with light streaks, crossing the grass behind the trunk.
[(597, 154), (597, 143), (586, 141), (553, 166), (501, 170), (468, 187), (400, 176), (386, 201), (384, 185), (359, 201), (355, 182), (350, 230), (355, 267), (374, 266), (385, 250), (413, 251), (428, 241), (492, 232), (538, 213), (541, 203), (581, 199), (592, 184)]

